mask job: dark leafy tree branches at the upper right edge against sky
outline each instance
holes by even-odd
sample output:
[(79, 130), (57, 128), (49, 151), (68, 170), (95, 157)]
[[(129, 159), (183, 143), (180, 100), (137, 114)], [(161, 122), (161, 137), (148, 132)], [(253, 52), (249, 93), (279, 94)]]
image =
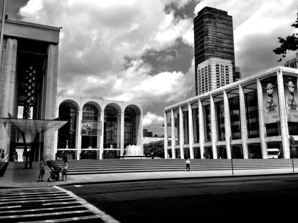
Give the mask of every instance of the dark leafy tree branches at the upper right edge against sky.
[[(295, 23), (291, 25), (292, 27), (298, 28), (298, 13), (297, 20)], [(280, 47), (273, 50), (273, 52), (277, 55), (282, 55), (282, 57), (277, 60), (278, 62), (282, 61), (283, 57), (286, 57), (287, 51), (297, 51), (298, 50), (298, 33), (294, 33), (292, 36), (287, 36), (285, 39), (282, 37), (278, 37), (279, 42), (281, 44)]]

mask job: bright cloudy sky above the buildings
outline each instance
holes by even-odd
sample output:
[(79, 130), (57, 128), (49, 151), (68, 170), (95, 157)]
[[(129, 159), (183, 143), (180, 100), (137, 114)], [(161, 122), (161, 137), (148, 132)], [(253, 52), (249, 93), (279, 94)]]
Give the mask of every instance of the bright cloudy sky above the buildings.
[(63, 27), (58, 96), (142, 102), (143, 125), (161, 126), (164, 107), (195, 96), (193, 19), (205, 6), (233, 17), (242, 78), (295, 57), (272, 50), (298, 32), (297, 0), (10, 0), (5, 14)]

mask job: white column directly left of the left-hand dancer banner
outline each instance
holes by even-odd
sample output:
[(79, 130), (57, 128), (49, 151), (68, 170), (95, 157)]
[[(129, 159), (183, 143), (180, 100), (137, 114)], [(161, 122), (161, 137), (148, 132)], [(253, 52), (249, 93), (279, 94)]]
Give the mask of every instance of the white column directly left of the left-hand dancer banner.
[(266, 144), (266, 127), (264, 119), (264, 103), (263, 103), (263, 90), (260, 79), (257, 78), (257, 93), (258, 93), (258, 113), (259, 113), (259, 130), (260, 141), (263, 159), (267, 159), (267, 144)]

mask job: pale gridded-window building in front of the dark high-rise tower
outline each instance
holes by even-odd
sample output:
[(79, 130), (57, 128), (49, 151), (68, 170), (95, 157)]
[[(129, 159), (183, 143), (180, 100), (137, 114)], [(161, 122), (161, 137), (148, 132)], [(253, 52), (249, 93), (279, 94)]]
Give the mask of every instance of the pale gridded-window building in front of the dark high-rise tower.
[(233, 82), (232, 63), (230, 60), (209, 58), (198, 65), (198, 93), (212, 91)]

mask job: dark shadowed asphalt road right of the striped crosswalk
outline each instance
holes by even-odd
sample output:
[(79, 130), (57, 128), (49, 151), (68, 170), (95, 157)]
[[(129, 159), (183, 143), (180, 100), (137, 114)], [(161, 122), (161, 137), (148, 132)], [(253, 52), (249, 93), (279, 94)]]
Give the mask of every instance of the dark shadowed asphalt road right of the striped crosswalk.
[(64, 186), (121, 223), (297, 222), (298, 175)]

